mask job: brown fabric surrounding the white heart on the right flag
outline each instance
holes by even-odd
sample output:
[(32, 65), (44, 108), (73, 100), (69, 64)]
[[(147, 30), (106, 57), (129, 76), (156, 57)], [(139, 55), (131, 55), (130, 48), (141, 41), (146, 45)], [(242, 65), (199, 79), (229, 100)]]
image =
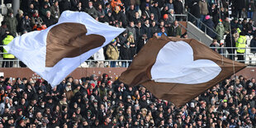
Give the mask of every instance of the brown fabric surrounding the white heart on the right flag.
[[(151, 80), (151, 68), (156, 61), (156, 57), (164, 45), (169, 41), (183, 40), (192, 46), (194, 60), (197, 59), (211, 59), (221, 68), (221, 72), (216, 78), (211, 81), (199, 84), (182, 84), (182, 83), (156, 83)], [(223, 63), (222, 63), (223, 62)], [(245, 64), (234, 62), (235, 73), (245, 68)], [(206, 45), (194, 39), (180, 39), (162, 36), (157, 39), (156, 37), (150, 39), (145, 46), (140, 50), (140, 53), (133, 59), (130, 67), (121, 74), (119, 80), (128, 84), (130, 87), (143, 85), (145, 88), (152, 92), (155, 97), (173, 102), (177, 107), (182, 107), (193, 98), (205, 92), (220, 83), (225, 78), (233, 74), (233, 61), (226, 59), (217, 54), (215, 51), (209, 49)]]

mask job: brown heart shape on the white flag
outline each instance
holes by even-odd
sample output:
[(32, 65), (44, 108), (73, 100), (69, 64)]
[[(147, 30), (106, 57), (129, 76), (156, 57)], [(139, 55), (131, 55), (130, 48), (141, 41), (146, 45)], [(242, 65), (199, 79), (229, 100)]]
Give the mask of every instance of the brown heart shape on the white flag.
[[(105, 37), (87, 34), (86, 26), (79, 23), (62, 23), (50, 29), (46, 39), (46, 67), (54, 67), (63, 58), (73, 58), (105, 42)], [(65, 38), (59, 38), (65, 37)]]

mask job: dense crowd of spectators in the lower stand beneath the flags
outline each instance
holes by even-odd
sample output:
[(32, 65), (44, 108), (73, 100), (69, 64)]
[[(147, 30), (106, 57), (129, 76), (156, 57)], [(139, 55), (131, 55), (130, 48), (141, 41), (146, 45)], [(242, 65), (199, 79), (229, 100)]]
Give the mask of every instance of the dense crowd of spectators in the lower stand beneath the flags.
[(226, 78), (180, 108), (115, 80), (1, 77), (0, 127), (256, 127), (255, 78)]

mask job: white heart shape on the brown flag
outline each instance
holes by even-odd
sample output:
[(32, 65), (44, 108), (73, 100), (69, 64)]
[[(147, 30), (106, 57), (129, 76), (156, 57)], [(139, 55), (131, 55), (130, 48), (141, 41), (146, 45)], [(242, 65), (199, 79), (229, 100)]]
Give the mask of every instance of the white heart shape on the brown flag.
[(159, 83), (197, 84), (216, 78), (220, 71), (220, 66), (209, 59), (194, 61), (191, 45), (170, 41), (159, 50), (151, 76)]

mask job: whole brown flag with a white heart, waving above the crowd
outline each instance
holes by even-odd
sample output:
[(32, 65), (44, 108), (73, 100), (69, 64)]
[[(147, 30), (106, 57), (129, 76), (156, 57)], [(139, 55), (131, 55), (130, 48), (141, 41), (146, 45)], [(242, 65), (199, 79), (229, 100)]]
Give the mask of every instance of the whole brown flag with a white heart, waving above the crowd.
[(181, 107), (244, 67), (197, 40), (161, 36), (148, 40), (119, 80)]

